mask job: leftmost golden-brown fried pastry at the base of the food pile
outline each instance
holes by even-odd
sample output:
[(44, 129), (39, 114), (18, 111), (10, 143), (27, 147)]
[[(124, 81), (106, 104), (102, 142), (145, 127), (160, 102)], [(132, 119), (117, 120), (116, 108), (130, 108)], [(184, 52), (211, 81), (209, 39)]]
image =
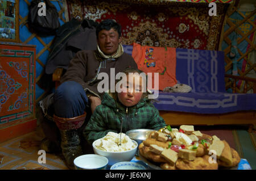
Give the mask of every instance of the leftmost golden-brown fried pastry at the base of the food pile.
[(141, 153), (143, 157), (153, 162), (167, 162), (166, 159), (161, 157), (159, 154), (155, 154), (152, 151), (150, 151), (149, 146), (145, 146), (143, 143), (139, 144), (139, 153)]

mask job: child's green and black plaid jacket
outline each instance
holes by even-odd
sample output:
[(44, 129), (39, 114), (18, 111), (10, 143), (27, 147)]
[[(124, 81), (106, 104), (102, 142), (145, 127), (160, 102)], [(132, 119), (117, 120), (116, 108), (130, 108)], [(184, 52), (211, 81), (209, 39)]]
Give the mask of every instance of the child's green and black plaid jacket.
[(86, 125), (83, 134), (86, 140), (93, 141), (104, 137), (108, 132), (119, 133), (122, 124), (122, 133), (130, 129), (155, 129), (166, 126), (159, 111), (143, 98), (133, 107), (121, 104), (114, 94), (105, 93), (100, 106), (94, 110)]

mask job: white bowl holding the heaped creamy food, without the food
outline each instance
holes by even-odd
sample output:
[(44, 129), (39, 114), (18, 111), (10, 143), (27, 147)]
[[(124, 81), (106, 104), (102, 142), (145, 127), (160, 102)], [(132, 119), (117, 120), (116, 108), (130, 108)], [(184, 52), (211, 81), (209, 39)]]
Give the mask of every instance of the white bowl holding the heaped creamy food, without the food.
[[(98, 140), (100, 140), (100, 139), (98, 139)], [(133, 148), (131, 150), (118, 151), (118, 152), (115, 152), (115, 151), (103, 151), (103, 150), (100, 150), (100, 149), (96, 148), (96, 146), (95, 146), (95, 142), (96, 141), (94, 141), (93, 144), (92, 144), (93, 145), (93, 151), (94, 151), (95, 154), (102, 155), (102, 156), (108, 158), (108, 160), (109, 160), (108, 165), (114, 165), (117, 162), (131, 161), (131, 159), (133, 159), (133, 157), (134, 157), (134, 155), (136, 153), (136, 150), (138, 148), (137, 142), (134, 141), (134, 140), (131, 140), (136, 145), (135, 148)]]

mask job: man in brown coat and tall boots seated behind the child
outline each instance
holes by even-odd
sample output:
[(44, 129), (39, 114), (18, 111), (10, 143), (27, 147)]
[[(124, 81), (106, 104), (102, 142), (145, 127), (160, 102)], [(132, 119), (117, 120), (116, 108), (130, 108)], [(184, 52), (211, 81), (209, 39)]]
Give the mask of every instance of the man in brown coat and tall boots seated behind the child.
[[(73, 159), (82, 154), (78, 129), (84, 124), (86, 106), (93, 112), (104, 94), (97, 90), (101, 81), (98, 74), (104, 72), (110, 77), (110, 68), (115, 68), (115, 74), (125, 68), (137, 68), (134, 59), (123, 52), (118, 23), (110, 19), (102, 21), (96, 28), (96, 36), (97, 49), (77, 52), (53, 96), (53, 121), (59, 128), (61, 150), (71, 169)], [(44, 139), (41, 148), (49, 150), (49, 145), (49, 140)]]

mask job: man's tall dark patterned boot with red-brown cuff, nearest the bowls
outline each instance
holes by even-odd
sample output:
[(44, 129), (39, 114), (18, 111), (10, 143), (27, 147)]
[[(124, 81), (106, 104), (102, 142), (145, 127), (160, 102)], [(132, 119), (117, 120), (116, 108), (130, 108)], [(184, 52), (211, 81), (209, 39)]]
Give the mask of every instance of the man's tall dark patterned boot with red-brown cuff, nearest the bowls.
[(75, 169), (73, 161), (76, 157), (82, 155), (82, 148), (77, 129), (82, 126), (85, 117), (86, 113), (72, 118), (57, 117), (56, 115), (53, 115), (53, 120), (60, 130), (60, 146), (69, 169)]

